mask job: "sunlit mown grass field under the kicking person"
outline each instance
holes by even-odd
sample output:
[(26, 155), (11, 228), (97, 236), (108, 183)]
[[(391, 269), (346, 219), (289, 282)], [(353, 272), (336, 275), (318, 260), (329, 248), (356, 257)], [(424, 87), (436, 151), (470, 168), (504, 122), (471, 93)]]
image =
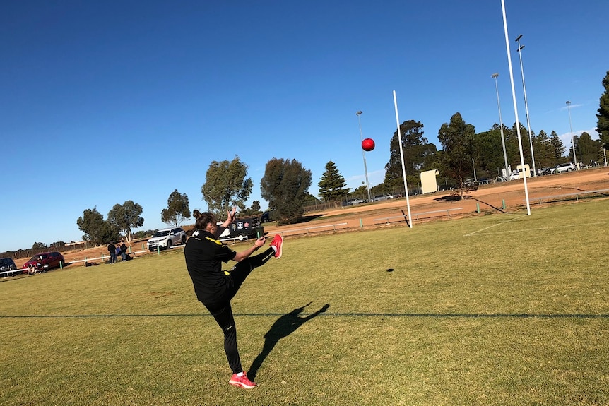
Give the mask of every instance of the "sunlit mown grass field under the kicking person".
[(608, 251), (607, 199), (286, 238), (233, 300), (252, 390), (181, 249), (6, 279), (0, 403), (609, 405)]

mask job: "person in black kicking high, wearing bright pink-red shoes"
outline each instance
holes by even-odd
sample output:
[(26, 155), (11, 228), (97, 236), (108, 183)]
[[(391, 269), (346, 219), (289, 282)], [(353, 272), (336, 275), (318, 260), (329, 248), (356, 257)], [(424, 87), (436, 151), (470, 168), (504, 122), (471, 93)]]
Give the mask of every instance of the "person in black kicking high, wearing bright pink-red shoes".
[[(218, 236), (235, 220), (235, 208), (227, 212), (228, 218), (220, 227), (213, 213), (194, 210), (193, 216), (196, 218), (196, 231), (184, 246), (184, 258), (196, 298), (208, 309), (224, 333), (224, 351), (232, 369), (228, 383), (241, 388), (254, 388), (256, 383), (247, 378), (241, 366), (230, 300), (235, 297), (254, 268), (264, 265), (271, 256), (281, 258), (283, 239), (276, 235), (266, 251), (250, 257), (254, 251), (264, 246), (264, 236), (256, 239), (249, 249), (241, 252), (232, 251), (218, 241)], [(228, 261), (235, 261), (237, 265), (230, 271), (223, 271), (222, 263)]]

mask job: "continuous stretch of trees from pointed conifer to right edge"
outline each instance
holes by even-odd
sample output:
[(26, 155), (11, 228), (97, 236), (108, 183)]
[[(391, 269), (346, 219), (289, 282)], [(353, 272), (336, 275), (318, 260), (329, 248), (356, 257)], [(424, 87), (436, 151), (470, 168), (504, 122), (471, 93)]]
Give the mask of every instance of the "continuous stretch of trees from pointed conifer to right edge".
[[(385, 177), (382, 184), (374, 185), (371, 194), (394, 194), (403, 190), (403, 174), (401, 153), (405, 162), (406, 180), (409, 187), (418, 188), (420, 173), (437, 169), (439, 184), (456, 189), (463, 198), (464, 193), (471, 189), (468, 179), (499, 179), (505, 180), (509, 173), (504, 173), (505, 161), (512, 169), (521, 163), (518, 133), (524, 162), (533, 167), (533, 157), (536, 168), (550, 168), (563, 162), (582, 162), (591, 165), (604, 160), (603, 150), (609, 149), (609, 71), (602, 80), (604, 92), (599, 102), (597, 129), (599, 140), (593, 140), (589, 133), (574, 136), (574, 148), (567, 148), (555, 131), (550, 134), (544, 130), (538, 133), (529, 132), (521, 123), (514, 123), (511, 128), (495, 124), (491, 129), (480, 133), (475, 132), (472, 124), (466, 123), (459, 112), (456, 112), (449, 123), (442, 124), (438, 131), (438, 140), (442, 149), (429, 143), (424, 136), (423, 124), (413, 119), (400, 124), (401, 143), (396, 130), (389, 142), (390, 157), (385, 165)], [(502, 141), (502, 137), (504, 141)], [(503, 152), (505, 145), (505, 155)], [(531, 156), (531, 145), (533, 157)], [(573, 155), (575, 150), (575, 156)], [(567, 153), (565, 156), (564, 154)], [(505, 168), (507, 169), (507, 168)], [(416, 193), (415, 189), (408, 191)], [(414, 193), (413, 193), (414, 192)], [(366, 186), (355, 190), (346, 187), (345, 179), (341, 176), (336, 164), (332, 161), (326, 164), (326, 171), (319, 181), (319, 197), (324, 201), (338, 204), (348, 196), (367, 198)]]

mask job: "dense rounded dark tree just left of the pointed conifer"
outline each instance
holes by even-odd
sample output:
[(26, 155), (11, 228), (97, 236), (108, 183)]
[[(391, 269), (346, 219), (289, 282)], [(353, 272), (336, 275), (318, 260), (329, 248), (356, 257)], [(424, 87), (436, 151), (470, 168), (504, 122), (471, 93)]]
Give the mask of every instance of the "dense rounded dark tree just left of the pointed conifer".
[(261, 196), (275, 209), (278, 224), (297, 222), (311, 186), (311, 171), (297, 160), (273, 158), (266, 162), (260, 182)]

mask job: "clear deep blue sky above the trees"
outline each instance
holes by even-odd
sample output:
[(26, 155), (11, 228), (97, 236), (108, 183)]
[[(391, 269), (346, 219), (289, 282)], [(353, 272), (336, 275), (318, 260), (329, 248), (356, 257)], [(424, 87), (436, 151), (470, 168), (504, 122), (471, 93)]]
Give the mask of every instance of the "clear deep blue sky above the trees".
[[(596, 134), (609, 70), (609, 1), (505, 0), (519, 119)], [(348, 186), (384, 178), (400, 121), (438, 149), (460, 112), (477, 132), (514, 124), (500, 0), (4, 1), (0, 13), (0, 252), (79, 241), (76, 219), (116, 203), (143, 207), (142, 229), (177, 189), (206, 210), (212, 160), (238, 155), (260, 179), (296, 159), (317, 184), (326, 162)], [(192, 220), (186, 222), (191, 223)]]

